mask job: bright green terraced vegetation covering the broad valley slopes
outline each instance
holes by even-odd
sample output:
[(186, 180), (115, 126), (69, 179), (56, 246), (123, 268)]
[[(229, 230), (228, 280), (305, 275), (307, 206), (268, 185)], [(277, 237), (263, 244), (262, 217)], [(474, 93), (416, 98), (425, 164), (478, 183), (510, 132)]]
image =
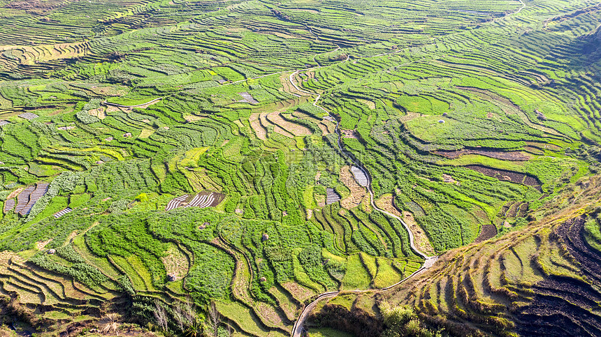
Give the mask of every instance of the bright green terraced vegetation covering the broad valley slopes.
[[(324, 125), (329, 131), (335, 125), (324, 120), (326, 110), (352, 131), (342, 145), (369, 171), (375, 199), (389, 196), (414, 214), (414, 230), (434, 250), (470, 244), (482, 225), (524, 229), (523, 219), (500, 212), (504, 204), (523, 203), (532, 212), (524, 217), (544, 216), (546, 200), (565, 186), (582, 188), (577, 182), (598, 172), (601, 89), (598, 54), (579, 52), (595, 43), (598, 19), (584, 9), (590, 4), (534, 1), (507, 15), (519, 6), (149, 0), (10, 9), (10, 24), (0, 28), (0, 120), (10, 121), (0, 132), (0, 199), (41, 180), (55, 196), (27, 223), (0, 216), (0, 250), (27, 260), (39, 241), (52, 239), (46, 248), (58, 248), (73, 239), (84, 264), (112, 279), (125, 274), (136, 290), (157, 296), (164, 286), (189, 291), (200, 308), (222, 299), (230, 317), (248, 312), (238, 318), (238, 333), (280, 334), (263, 330), (245, 306), (226, 299), (252, 292), (252, 303), (287, 311), (293, 321), (294, 297), (310, 295), (290, 285), (316, 293), (385, 287), (420, 267), (403, 225), (372, 209), (368, 196), (343, 211), (339, 203), (324, 206), (326, 188), (349, 195), (340, 167), (351, 165), (335, 133), (322, 134)], [(547, 27), (540, 17), (549, 18)], [(298, 87), (315, 94), (299, 96), (291, 73)], [(244, 92), (258, 103), (240, 101)], [(131, 109), (103, 103), (154, 98), (162, 99)], [(26, 111), (39, 117), (18, 117)], [(531, 158), (440, 155), (462, 149)], [(527, 173), (542, 190), (465, 165)], [(164, 211), (173, 197), (201, 190), (225, 199), (203, 210)], [(562, 207), (569, 205), (566, 199)], [(52, 217), (65, 207), (73, 212)], [(589, 228), (593, 243), (595, 235)], [(228, 246), (216, 245), (217, 237), (227, 237)], [(162, 279), (168, 244), (189, 250), (183, 283)], [(524, 242), (515, 250), (528, 260), (536, 248)], [(541, 268), (572, 277), (573, 266), (556, 247), (546, 249), (558, 256), (535, 260)], [(231, 285), (236, 263), (229, 250), (249, 264), (255, 280), (248, 270), (249, 282)], [(301, 252), (310, 253), (302, 264)], [(51, 259), (66, 267), (80, 261)], [(540, 279), (519, 269), (519, 261), (507, 255), (507, 270), (490, 269), (512, 280)], [(116, 289), (115, 281), (106, 287)]]

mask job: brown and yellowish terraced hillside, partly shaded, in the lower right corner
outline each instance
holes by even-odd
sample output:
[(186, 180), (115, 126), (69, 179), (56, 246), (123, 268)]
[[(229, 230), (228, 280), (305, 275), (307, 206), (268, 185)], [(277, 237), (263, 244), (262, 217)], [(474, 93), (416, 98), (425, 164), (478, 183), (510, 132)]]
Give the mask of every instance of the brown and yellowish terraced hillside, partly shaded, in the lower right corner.
[(312, 319), (372, 315), (363, 322), (380, 325), (369, 329), (411, 336), (410, 321), (395, 317), (412, 310), (422, 329), (451, 336), (598, 336), (600, 200), (598, 177), (580, 181), (542, 207), (541, 220), (451, 250), (403, 287), (341, 294)]

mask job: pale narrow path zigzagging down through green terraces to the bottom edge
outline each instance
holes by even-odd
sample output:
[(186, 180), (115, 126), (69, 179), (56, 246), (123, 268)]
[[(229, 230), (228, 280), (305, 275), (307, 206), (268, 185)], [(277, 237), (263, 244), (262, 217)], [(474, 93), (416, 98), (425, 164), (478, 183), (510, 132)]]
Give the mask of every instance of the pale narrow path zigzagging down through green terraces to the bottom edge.
[[(349, 60), (349, 56), (347, 56), (347, 59), (345, 60), (345, 62), (348, 61), (348, 60)], [(316, 68), (322, 68), (322, 66), (314, 67), (314, 68), (311, 68), (311, 69), (316, 69)], [(294, 89), (296, 89), (296, 90), (298, 90), (298, 91), (300, 91), (302, 93), (307, 93), (307, 94), (312, 95), (312, 96), (317, 95), (317, 97), (313, 101), (313, 106), (321, 109), (324, 112), (326, 112), (326, 114), (328, 114), (329, 117), (333, 118), (336, 121), (335, 133), (338, 136), (338, 149), (340, 150), (340, 152), (342, 152), (342, 154), (344, 154), (345, 156), (347, 156), (356, 167), (359, 167), (359, 169), (363, 172), (363, 174), (365, 174), (365, 177), (367, 177), (367, 179), (368, 179), (367, 190), (370, 193), (370, 203), (371, 203), (372, 208), (375, 209), (376, 211), (380, 211), (380, 212), (386, 214), (387, 216), (390, 216), (391, 218), (396, 218), (397, 220), (399, 220), (400, 223), (403, 224), (403, 227), (405, 227), (405, 229), (409, 233), (409, 244), (411, 246), (411, 249), (414, 251), (414, 253), (416, 253), (417, 255), (419, 255), (420, 257), (422, 257), (425, 260), (424, 263), (423, 263), (423, 265), (419, 269), (417, 269), (417, 271), (414, 271), (410, 276), (407, 276), (406, 278), (403, 278), (403, 280), (400, 280), (398, 283), (395, 283), (393, 285), (389, 285), (388, 287), (384, 287), (382, 289), (379, 289), (379, 291), (386, 291), (386, 290), (392, 289), (393, 287), (396, 287), (396, 286), (400, 285), (401, 283), (405, 282), (406, 280), (409, 280), (410, 278), (412, 278), (413, 276), (421, 273), (422, 271), (424, 271), (424, 270), (432, 267), (432, 265), (434, 264), (434, 262), (436, 262), (436, 260), (438, 259), (438, 257), (437, 256), (428, 256), (426, 253), (423, 253), (421, 250), (419, 250), (415, 246), (415, 244), (414, 244), (414, 235), (411, 232), (411, 229), (410, 229), (409, 225), (407, 225), (407, 223), (405, 223), (405, 221), (403, 221), (402, 218), (396, 216), (395, 214), (391, 214), (389, 211), (385, 211), (384, 209), (380, 209), (379, 207), (376, 206), (375, 201), (374, 201), (374, 199), (375, 199), (374, 192), (373, 192), (373, 189), (372, 189), (372, 177), (371, 177), (369, 171), (363, 165), (361, 165), (361, 163), (359, 163), (359, 160), (356, 160), (356, 158), (354, 158), (354, 156), (352, 155), (352, 153), (347, 152), (345, 150), (344, 146), (342, 145), (342, 137), (340, 135), (340, 121), (338, 119), (336, 119), (335, 116), (333, 116), (333, 114), (331, 114), (324, 107), (321, 107), (321, 105), (317, 105), (317, 102), (321, 98), (321, 93), (312, 93), (310, 91), (303, 90), (300, 87), (298, 87), (296, 85), (296, 83), (294, 83), (294, 76), (296, 74), (298, 74), (299, 72), (304, 71), (304, 70), (309, 70), (309, 69), (296, 70), (294, 73), (291, 73), (290, 77), (289, 77), (290, 84), (292, 84), (292, 86), (294, 87)], [(371, 290), (351, 290), (351, 291), (345, 291), (345, 293), (361, 294), (361, 293), (375, 292), (375, 291), (378, 291), (378, 290), (377, 289), (371, 289)], [(335, 297), (338, 294), (340, 294), (340, 292), (324, 292), (322, 294), (319, 294), (319, 296), (317, 297), (317, 299), (315, 299), (310, 304), (308, 304), (307, 306), (305, 306), (305, 308), (303, 308), (303, 312), (301, 313), (301, 315), (298, 316), (298, 320), (296, 320), (296, 322), (294, 322), (294, 327), (292, 328), (292, 335), (291, 336), (292, 337), (301, 337), (301, 334), (303, 332), (304, 325), (305, 325), (305, 320), (307, 320), (308, 315), (312, 312), (312, 310), (315, 308), (315, 306), (317, 306), (317, 303), (319, 303), (319, 301), (322, 301), (324, 299), (328, 299), (328, 298), (331, 298), (331, 297)]]

